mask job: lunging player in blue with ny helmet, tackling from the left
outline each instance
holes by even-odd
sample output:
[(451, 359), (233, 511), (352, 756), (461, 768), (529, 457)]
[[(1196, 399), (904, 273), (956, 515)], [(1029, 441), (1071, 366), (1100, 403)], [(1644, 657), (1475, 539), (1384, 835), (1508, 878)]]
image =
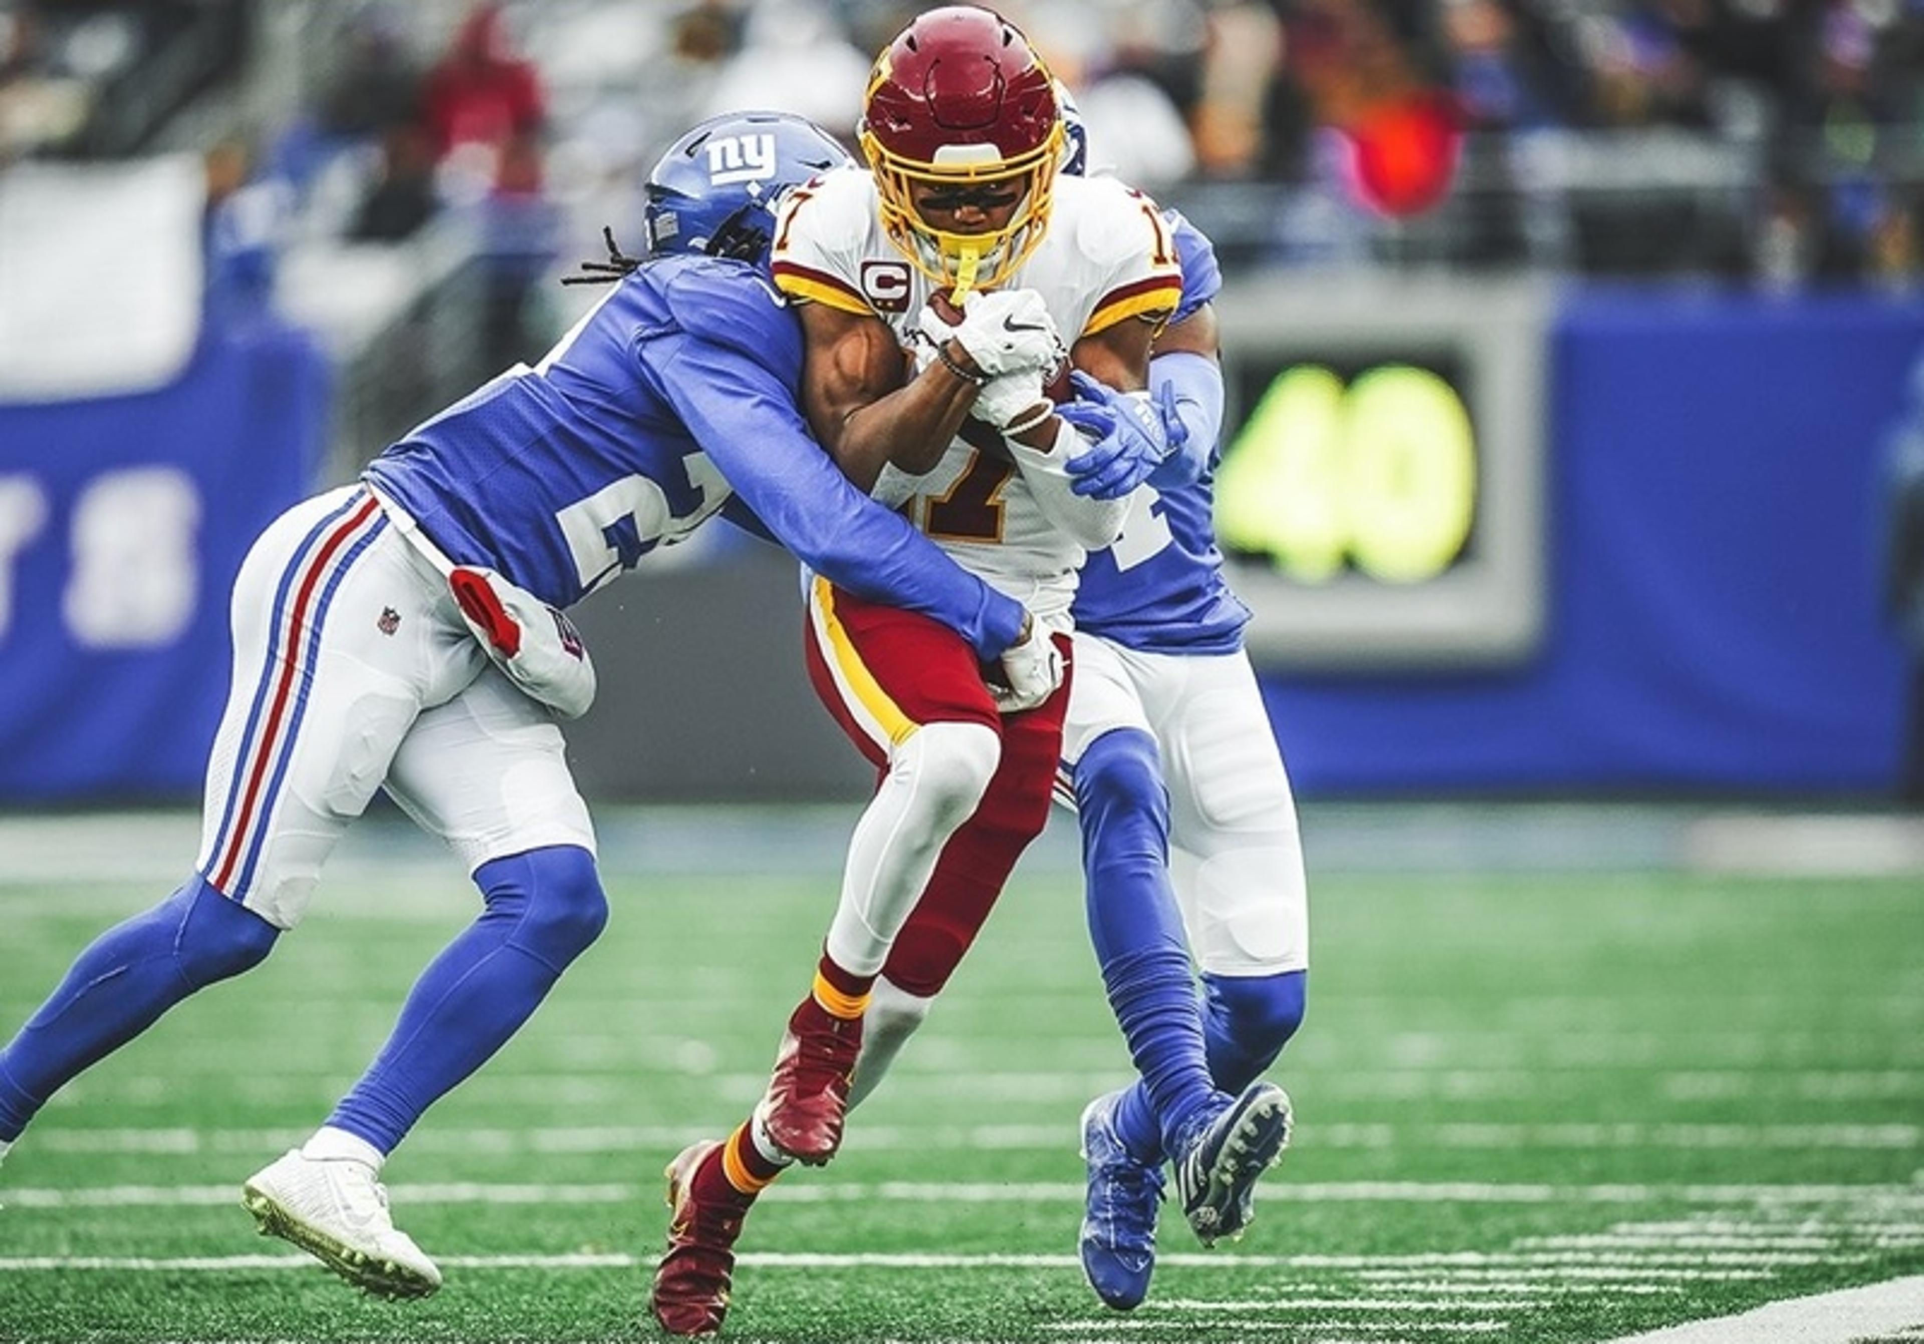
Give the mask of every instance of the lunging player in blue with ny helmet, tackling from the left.
[(1024, 606), (850, 486), (797, 410), (800, 327), (762, 269), (772, 212), (843, 162), (798, 117), (696, 127), (648, 179), (658, 260), (598, 263), (614, 285), (541, 363), (262, 533), (235, 581), (194, 873), (94, 940), (0, 1050), (0, 1156), (85, 1067), (260, 963), (385, 786), (462, 858), (483, 913), (327, 1123), (242, 1202), (356, 1286), (425, 1296), (441, 1271), (394, 1229), (381, 1165), (608, 917), (556, 725), (595, 694), (566, 608), (739, 502), (816, 573), (960, 633), (1010, 694), (1039, 704), (1060, 684)]

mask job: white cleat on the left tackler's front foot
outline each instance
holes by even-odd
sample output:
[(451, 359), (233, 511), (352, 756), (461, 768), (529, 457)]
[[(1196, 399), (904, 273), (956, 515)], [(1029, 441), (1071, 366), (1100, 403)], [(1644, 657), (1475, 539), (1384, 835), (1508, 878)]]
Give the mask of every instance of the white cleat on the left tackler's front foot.
[(387, 1186), (364, 1161), (292, 1148), (248, 1177), (240, 1204), (262, 1236), (292, 1242), (377, 1298), (425, 1298), (441, 1286), (435, 1261), (394, 1227)]

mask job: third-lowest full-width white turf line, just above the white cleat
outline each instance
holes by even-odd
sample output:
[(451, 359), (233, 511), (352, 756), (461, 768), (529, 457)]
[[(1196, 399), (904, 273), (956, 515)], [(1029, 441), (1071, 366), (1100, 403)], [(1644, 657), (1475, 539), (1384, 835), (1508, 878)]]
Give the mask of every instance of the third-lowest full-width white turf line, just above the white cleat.
[[(764, 1081), (766, 1086), (766, 1081)], [(1077, 1096), (1081, 1092), (1077, 1090)], [(673, 1152), (704, 1131), (671, 1125), (596, 1125), (571, 1129), (458, 1129), (410, 1138), (410, 1152), (452, 1154), (629, 1154)], [(198, 1154), (273, 1152), (306, 1138), (306, 1131), (123, 1127), (56, 1129), (35, 1136), (37, 1148), (62, 1154)], [(879, 1125), (850, 1134), (850, 1152), (968, 1150), (1054, 1152), (1072, 1146), (1062, 1125), (947, 1125), (931, 1129)], [(1849, 1148), (1903, 1152), (1924, 1148), (1924, 1125), (1326, 1125), (1303, 1136), (1316, 1148), (1684, 1148), (1684, 1150), (1812, 1150)]]

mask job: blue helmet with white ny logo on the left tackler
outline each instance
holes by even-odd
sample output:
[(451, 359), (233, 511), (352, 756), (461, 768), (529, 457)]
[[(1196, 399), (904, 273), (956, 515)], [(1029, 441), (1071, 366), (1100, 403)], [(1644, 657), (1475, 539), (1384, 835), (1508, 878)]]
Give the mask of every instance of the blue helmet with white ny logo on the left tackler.
[(854, 163), (822, 127), (785, 112), (731, 112), (683, 135), (648, 171), (648, 256), (760, 261), (775, 206), (816, 173)]

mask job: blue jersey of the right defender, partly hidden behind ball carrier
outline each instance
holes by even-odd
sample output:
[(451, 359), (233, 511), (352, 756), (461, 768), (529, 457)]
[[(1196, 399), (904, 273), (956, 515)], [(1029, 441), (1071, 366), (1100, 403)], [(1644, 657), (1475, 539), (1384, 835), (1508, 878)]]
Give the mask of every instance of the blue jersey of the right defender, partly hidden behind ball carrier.
[[(1181, 321), (1222, 288), (1222, 271), (1208, 238), (1174, 210), (1183, 267), (1183, 298), (1172, 321)], [(1089, 556), (1076, 590), (1076, 629), (1147, 654), (1233, 654), (1243, 646), (1249, 608), (1229, 590), (1216, 548), (1216, 460), (1195, 485), (1137, 488), (1122, 536)]]

